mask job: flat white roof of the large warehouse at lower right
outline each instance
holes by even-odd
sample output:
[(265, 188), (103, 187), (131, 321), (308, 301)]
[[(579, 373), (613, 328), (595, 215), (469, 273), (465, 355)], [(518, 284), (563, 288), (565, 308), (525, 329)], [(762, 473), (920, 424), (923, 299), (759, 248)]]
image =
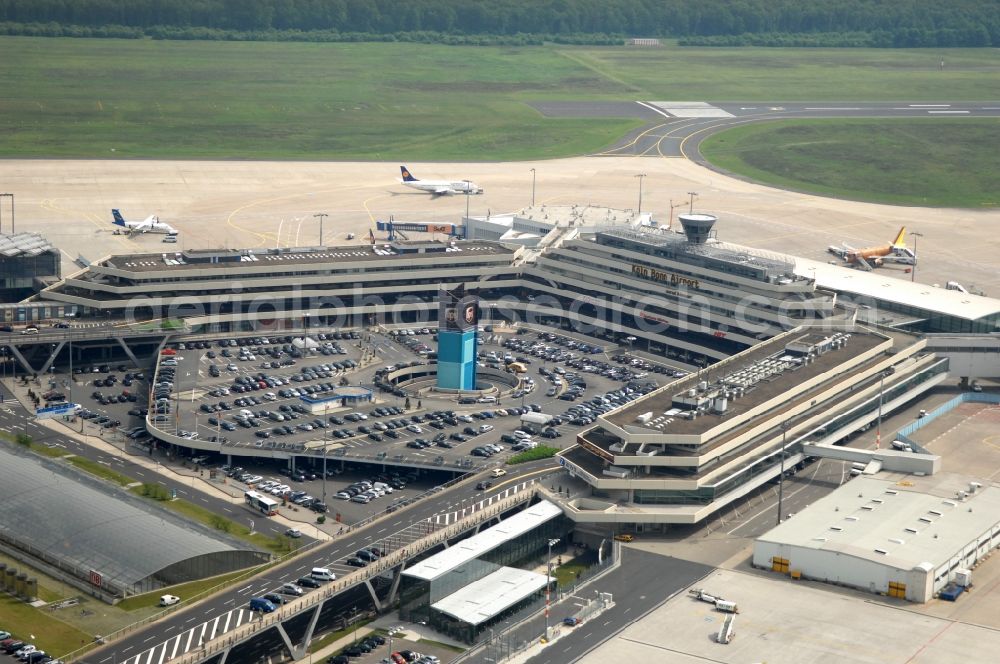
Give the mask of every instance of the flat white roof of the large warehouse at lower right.
[(937, 567), (1000, 522), (1000, 488), (965, 475), (862, 475), (758, 541), (873, 560), (900, 569)]

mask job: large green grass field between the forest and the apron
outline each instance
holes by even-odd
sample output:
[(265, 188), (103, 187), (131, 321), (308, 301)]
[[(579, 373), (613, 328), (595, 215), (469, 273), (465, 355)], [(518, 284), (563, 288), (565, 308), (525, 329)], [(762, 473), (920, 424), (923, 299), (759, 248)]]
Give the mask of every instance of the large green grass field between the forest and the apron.
[(505, 161), (594, 152), (639, 125), (544, 118), (534, 100), (1000, 99), (990, 49), (0, 37), (0, 60), (5, 157)]

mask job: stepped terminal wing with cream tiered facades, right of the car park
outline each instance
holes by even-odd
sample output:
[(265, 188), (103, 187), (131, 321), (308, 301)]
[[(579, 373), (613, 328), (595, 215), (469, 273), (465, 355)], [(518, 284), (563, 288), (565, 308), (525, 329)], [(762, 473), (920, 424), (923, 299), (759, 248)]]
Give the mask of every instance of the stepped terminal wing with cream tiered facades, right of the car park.
[(560, 453), (590, 487), (562, 501), (579, 523), (692, 524), (781, 472), (805, 442), (837, 442), (946, 377), (926, 342), (862, 326), (800, 327), (598, 418)]

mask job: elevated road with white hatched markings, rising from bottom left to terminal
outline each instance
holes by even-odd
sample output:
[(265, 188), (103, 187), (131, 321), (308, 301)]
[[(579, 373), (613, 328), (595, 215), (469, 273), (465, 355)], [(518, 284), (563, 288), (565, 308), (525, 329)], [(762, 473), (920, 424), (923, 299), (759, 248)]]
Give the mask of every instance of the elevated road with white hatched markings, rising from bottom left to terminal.
[(212, 633), (218, 637), (225, 631), (235, 629), (237, 622), (245, 624), (245, 609), (251, 597), (276, 591), (281, 584), (308, 575), (313, 567), (329, 567), (342, 576), (354, 569), (343, 564), (344, 559), (353, 556), (358, 549), (379, 546), (395, 550), (406, 546), (417, 535), (413, 524), (435, 514), (452, 513), (454, 510), (451, 508), (470, 495), (475, 495), (477, 500), (485, 500), (517, 484), (522, 477), (539, 477), (540, 472), (544, 474), (546, 469), (555, 468), (551, 459), (523, 464), (508, 471), (502, 482), (486, 492), (473, 492), (472, 483), (463, 482), (363, 528), (339, 535), (331, 542), (320, 544), (287, 563), (192, 607), (182, 604), (179, 611), (120, 641), (88, 653), (80, 661), (86, 664), (161, 664), (168, 656), (178, 656), (200, 647)]

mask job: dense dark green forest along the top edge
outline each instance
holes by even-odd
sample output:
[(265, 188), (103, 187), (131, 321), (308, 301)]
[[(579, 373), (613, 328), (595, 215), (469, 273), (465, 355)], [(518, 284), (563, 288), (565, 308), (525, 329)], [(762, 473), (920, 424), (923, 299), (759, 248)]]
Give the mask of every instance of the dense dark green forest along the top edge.
[(989, 47), (1000, 0), (0, 0), (0, 34), (445, 44)]

